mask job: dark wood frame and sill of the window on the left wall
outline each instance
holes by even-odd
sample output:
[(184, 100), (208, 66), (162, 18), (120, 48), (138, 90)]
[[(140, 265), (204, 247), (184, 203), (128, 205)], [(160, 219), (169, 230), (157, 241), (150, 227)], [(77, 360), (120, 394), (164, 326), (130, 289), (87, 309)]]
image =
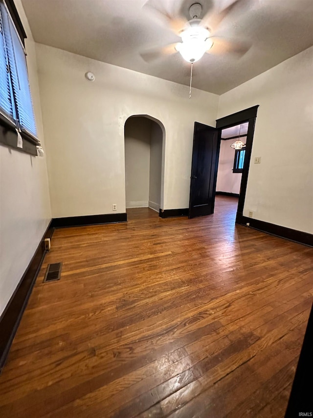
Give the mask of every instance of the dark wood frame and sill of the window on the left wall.
[[(14, 1), (13, 0), (4, 0), (4, 1), (0, 0), (0, 1), (4, 3), (9, 13), (9, 16), (13, 22), (14, 29), (16, 30), (16, 33), (21, 40), (22, 47), (25, 52), (25, 39), (27, 38), (27, 36), (23, 28), (21, 19), (19, 17), (18, 11), (16, 9), (16, 6), (14, 4)], [(25, 56), (26, 56), (26, 53), (25, 53)], [(26, 68), (27, 68), (27, 64), (26, 64)], [(28, 71), (27, 71), (27, 76), (28, 76)], [(34, 114), (34, 117), (35, 117), (35, 114)], [(5, 115), (3, 115), (0, 112), (0, 144), (4, 146), (8, 146), (10, 148), (18, 149), (27, 154), (37, 156), (38, 155), (37, 146), (40, 146), (39, 140), (22, 130), (21, 132), (19, 132), (22, 137), (22, 148), (19, 148), (18, 147), (18, 133), (16, 130), (17, 128), (18, 126), (16, 123), (12, 122), (10, 119), (8, 119)]]

